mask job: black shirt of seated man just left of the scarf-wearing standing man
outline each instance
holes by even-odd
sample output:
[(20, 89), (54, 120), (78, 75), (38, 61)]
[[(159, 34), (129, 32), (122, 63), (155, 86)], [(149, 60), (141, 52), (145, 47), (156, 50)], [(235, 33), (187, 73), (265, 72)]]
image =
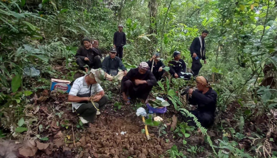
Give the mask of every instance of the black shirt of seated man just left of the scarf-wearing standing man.
[(186, 63), (183, 59), (179, 59), (179, 61), (171, 60), (168, 62), (169, 65), (169, 72), (171, 75), (174, 75), (175, 73), (178, 74), (178, 76), (183, 76), (181, 72), (186, 73)]

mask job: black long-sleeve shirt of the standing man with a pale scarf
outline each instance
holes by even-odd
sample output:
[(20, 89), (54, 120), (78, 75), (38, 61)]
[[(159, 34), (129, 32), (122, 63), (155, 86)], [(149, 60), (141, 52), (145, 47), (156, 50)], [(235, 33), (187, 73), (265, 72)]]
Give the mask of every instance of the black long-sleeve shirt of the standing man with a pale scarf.
[(190, 45), (190, 54), (192, 57), (193, 53), (197, 54), (197, 57), (199, 59), (205, 60), (206, 59), (206, 53), (203, 53), (205, 50), (205, 40), (202, 38), (202, 57), (200, 53), (201, 44), (199, 41), (199, 37), (195, 37)]

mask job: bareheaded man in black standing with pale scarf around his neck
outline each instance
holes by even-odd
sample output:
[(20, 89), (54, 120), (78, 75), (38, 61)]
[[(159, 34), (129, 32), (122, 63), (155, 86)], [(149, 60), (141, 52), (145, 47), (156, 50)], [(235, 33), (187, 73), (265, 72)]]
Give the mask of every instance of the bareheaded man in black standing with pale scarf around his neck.
[(202, 35), (199, 37), (195, 37), (190, 45), (190, 54), (192, 57), (191, 71), (193, 77), (198, 75), (202, 67), (200, 59), (204, 60), (204, 64), (207, 63), (205, 52), (206, 44), (204, 38), (207, 37), (208, 34), (209, 32), (207, 30), (203, 30)]

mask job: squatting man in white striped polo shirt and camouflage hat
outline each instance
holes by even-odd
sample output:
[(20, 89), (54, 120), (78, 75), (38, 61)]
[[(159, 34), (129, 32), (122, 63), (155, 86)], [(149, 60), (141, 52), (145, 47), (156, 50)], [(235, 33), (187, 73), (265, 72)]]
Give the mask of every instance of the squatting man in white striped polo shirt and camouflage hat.
[(90, 74), (74, 81), (68, 95), (72, 110), (76, 110), (82, 123), (89, 123), (89, 126), (108, 103), (108, 96), (100, 86), (103, 79), (103, 70), (91, 69)]

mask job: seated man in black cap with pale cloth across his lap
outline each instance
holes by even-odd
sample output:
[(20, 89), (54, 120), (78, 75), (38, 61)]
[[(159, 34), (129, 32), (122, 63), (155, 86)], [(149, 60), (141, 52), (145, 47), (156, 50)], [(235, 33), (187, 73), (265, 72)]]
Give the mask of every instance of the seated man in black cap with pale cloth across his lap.
[[(104, 72), (106, 72), (106, 78), (109, 80), (113, 79), (113, 76), (115, 78), (122, 80), (123, 76), (127, 74), (127, 69), (123, 65), (121, 59), (119, 57), (116, 57), (116, 49), (111, 48), (110, 50), (110, 56), (105, 57), (102, 63), (102, 69)], [(121, 69), (123, 71), (118, 70)]]

